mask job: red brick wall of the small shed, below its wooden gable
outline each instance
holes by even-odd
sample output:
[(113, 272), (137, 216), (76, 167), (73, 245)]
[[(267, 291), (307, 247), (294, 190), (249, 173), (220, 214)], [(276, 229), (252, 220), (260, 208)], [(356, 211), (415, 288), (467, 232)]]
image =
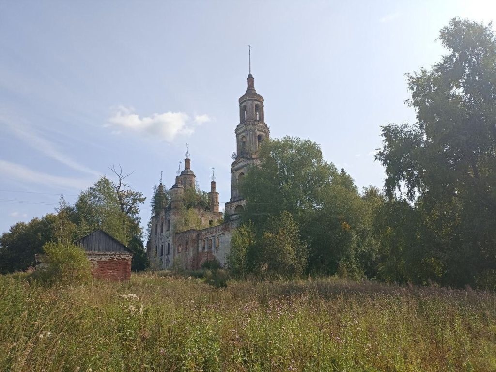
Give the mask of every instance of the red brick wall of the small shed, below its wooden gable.
[(94, 278), (128, 280), (131, 277), (131, 253), (87, 252)]

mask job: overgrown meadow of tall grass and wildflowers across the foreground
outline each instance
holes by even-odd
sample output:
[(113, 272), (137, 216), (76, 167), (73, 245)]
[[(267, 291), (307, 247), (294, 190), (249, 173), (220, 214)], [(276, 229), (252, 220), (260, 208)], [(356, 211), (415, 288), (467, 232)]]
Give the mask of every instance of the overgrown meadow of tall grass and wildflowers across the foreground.
[[(120, 295), (136, 296), (121, 297)], [(0, 276), (1, 371), (495, 371), (496, 295), (334, 279)]]

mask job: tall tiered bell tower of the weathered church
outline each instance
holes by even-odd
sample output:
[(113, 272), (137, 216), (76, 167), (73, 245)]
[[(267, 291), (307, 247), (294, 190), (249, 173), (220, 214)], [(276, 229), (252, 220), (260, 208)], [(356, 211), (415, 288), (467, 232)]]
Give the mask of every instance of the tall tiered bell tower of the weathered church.
[[(250, 61), (251, 62), (251, 61)], [(226, 203), (226, 213), (232, 218), (245, 211), (246, 201), (239, 190), (239, 184), (249, 167), (258, 164), (258, 149), (262, 141), (269, 138), (265, 124), (263, 97), (255, 90), (255, 78), (247, 77), (246, 93), (239, 99), (240, 124), (236, 126), (236, 159), (231, 164), (231, 199)]]

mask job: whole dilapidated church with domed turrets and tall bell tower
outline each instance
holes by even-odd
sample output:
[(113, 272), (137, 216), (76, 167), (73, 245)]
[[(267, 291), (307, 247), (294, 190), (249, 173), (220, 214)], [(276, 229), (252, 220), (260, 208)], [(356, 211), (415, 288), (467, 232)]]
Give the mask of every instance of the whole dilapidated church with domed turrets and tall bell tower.
[[(198, 269), (214, 259), (221, 266), (228, 264), (231, 239), (246, 207), (238, 186), (248, 169), (258, 164), (258, 149), (270, 134), (264, 120), (263, 97), (256, 93), (251, 73), (247, 77), (247, 90), (239, 99), (239, 110), (240, 123), (235, 129), (236, 159), (231, 164), (231, 198), (225, 205), (225, 215), (219, 212), (219, 193), (213, 177), (208, 203), (192, 206), (188, 203), (188, 197), (194, 194), (196, 176), (186, 152), (185, 169), (170, 189), (170, 200), (159, 205), (151, 218), (146, 248), (152, 267), (169, 269), (180, 265)], [(160, 193), (164, 193), (162, 183), (158, 187)]]

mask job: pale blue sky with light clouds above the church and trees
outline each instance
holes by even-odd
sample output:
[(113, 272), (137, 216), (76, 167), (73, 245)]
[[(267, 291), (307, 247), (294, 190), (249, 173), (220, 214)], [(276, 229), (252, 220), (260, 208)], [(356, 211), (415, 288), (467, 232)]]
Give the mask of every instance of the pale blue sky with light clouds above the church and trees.
[(0, 233), (74, 202), (121, 164), (149, 197), (189, 143), (229, 200), (248, 47), (272, 137), (310, 138), (358, 186), (382, 186), (380, 125), (413, 122), (406, 72), (429, 67), (450, 18), (494, 1), (0, 0)]

